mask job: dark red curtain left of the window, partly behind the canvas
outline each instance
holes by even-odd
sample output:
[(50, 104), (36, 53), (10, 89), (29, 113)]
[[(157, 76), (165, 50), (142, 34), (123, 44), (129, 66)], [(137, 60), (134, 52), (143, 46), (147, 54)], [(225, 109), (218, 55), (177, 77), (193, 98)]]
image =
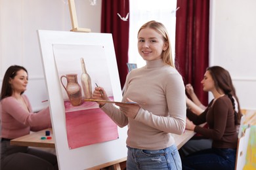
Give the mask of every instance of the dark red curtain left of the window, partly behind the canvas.
[(117, 13), (125, 17), (128, 12), (129, 0), (102, 0), (101, 32), (112, 33), (121, 88), (128, 73), (129, 18), (123, 21)]

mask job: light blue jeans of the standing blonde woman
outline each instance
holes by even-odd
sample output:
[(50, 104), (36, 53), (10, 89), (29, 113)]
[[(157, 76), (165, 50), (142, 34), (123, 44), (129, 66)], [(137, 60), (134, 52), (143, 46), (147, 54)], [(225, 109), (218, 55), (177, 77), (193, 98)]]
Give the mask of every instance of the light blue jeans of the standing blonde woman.
[(161, 150), (127, 148), (127, 170), (181, 169), (181, 157), (175, 144)]

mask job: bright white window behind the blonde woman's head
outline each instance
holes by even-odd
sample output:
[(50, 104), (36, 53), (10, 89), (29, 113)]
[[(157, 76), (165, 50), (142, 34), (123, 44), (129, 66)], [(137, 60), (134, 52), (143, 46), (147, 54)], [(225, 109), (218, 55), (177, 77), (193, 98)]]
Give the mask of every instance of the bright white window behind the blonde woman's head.
[(137, 33), (140, 26), (150, 20), (161, 22), (167, 28), (174, 59), (177, 0), (130, 0), (129, 4), (129, 63), (137, 63), (138, 67), (146, 64), (137, 50)]

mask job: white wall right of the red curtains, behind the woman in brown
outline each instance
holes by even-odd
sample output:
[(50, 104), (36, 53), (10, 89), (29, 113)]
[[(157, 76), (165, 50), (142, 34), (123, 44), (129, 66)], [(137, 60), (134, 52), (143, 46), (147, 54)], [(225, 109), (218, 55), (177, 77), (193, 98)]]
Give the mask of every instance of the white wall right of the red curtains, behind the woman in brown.
[(256, 109), (256, 1), (211, 0), (210, 65), (230, 72), (242, 109)]

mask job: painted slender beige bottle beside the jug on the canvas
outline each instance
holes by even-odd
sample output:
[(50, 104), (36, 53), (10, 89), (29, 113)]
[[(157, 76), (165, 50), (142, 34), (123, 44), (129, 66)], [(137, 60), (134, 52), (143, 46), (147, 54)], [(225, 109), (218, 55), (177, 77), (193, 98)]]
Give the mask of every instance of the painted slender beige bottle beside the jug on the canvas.
[(91, 99), (92, 97), (92, 88), (91, 88), (91, 77), (87, 73), (85, 68), (85, 61), (81, 58), (81, 67), (83, 73), (81, 74), (81, 84), (83, 88), (83, 93), (85, 95), (85, 99)]

